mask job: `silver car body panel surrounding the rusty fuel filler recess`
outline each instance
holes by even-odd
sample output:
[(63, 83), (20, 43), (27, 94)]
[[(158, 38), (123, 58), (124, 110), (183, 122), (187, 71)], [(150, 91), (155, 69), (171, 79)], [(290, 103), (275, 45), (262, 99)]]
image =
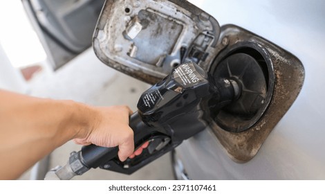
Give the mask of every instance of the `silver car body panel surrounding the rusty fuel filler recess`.
[(224, 24), (235, 24), (293, 53), (304, 65), (298, 98), (243, 164), (207, 129), (176, 155), (190, 179), (325, 179), (325, 1), (191, 1)]

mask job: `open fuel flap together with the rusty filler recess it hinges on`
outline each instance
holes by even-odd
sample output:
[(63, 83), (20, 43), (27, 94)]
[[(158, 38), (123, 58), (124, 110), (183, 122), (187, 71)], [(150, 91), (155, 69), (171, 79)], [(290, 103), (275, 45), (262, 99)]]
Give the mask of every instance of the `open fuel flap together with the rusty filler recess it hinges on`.
[[(239, 26), (216, 19), (187, 1), (106, 1), (93, 35), (104, 64), (154, 84), (187, 61), (242, 91), (205, 120), (234, 161), (249, 161), (293, 104), (304, 67), (291, 53)], [(217, 109), (217, 108), (216, 108)]]

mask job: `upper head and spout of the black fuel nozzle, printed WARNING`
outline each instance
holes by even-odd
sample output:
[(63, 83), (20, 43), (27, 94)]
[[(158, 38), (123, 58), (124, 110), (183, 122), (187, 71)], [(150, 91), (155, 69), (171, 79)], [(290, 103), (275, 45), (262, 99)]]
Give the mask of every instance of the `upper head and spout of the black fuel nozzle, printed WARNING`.
[[(201, 111), (200, 103), (224, 107), (240, 96), (235, 80), (215, 80), (198, 64), (178, 65), (169, 76), (145, 91), (138, 101), (138, 112), (148, 125), (169, 122), (175, 116)], [(180, 121), (186, 123), (187, 116)]]

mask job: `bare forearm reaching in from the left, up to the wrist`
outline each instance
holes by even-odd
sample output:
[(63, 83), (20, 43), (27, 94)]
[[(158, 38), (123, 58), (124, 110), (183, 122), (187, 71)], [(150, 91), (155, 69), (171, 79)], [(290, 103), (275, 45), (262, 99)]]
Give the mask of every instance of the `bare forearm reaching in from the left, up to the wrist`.
[(0, 179), (15, 179), (66, 141), (87, 136), (95, 115), (91, 107), (70, 100), (0, 90)]

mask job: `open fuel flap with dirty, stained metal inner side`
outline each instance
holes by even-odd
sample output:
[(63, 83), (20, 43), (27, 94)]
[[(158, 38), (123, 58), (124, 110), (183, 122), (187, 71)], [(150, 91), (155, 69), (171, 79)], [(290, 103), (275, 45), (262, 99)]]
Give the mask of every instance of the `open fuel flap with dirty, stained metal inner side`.
[(104, 64), (151, 84), (185, 60), (216, 55), (216, 19), (187, 1), (106, 1), (93, 38)]

